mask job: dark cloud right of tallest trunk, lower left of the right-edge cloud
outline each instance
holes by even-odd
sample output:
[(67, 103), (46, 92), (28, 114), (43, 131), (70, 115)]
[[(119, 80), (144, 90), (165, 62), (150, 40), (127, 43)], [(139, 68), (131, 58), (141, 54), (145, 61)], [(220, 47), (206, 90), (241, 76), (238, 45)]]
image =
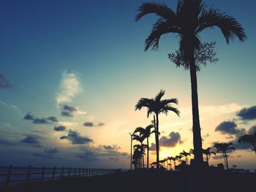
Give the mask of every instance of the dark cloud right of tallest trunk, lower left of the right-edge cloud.
[(215, 131), (220, 131), (222, 134), (239, 134), (241, 132), (234, 121), (223, 121), (215, 128)]

